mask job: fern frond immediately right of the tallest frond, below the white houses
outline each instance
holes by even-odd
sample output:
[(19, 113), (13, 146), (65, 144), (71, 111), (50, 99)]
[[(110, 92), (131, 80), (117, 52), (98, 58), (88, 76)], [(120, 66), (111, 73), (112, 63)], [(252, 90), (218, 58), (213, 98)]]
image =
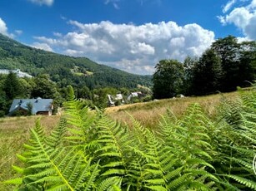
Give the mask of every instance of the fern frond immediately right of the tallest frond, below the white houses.
[(110, 177), (123, 178), (127, 174), (129, 151), (127, 130), (109, 120), (105, 115), (98, 121), (98, 149), (93, 154), (100, 159), (102, 174), (100, 181)]

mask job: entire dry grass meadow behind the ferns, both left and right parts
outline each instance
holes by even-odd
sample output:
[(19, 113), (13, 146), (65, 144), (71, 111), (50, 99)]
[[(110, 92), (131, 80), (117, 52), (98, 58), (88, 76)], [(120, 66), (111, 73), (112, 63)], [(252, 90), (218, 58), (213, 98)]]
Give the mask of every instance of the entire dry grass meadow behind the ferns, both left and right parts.
[[(237, 92), (225, 94), (228, 98), (238, 96)], [(173, 110), (175, 115), (181, 115), (187, 106), (198, 102), (210, 116), (214, 116), (216, 105), (218, 105), (220, 95), (188, 97), (179, 99), (158, 100), (148, 103), (139, 103), (134, 105), (121, 105), (118, 107), (108, 108), (106, 113), (114, 120), (129, 123), (127, 112), (139, 120), (143, 125), (150, 128), (158, 123), (159, 116), (163, 115), (167, 108)], [(43, 116), (42, 125), (47, 130), (53, 129), (58, 124), (60, 116)], [(13, 117), (0, 119), (0, 182), (15, 176), (11, 169), (12, 164), (18, 164), (15, 154), (20, 154), (23, 150), (23, 143), (28, 140), (29, 129), (34, 124), (36, 116), (30, 117)], [(13, 190), (11, 187), (0, 183), (0, 190)]]

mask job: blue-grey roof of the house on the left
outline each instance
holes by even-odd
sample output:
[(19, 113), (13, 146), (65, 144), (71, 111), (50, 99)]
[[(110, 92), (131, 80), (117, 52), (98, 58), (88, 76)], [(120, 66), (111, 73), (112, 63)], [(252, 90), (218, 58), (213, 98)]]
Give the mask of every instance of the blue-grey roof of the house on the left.
[(9, 113), (13, 113), (20, 108), (28, 110), (29, 103), (32, 105), (32, 115), (36, 115), (40, 111), (52, 110), (53, 99), (15, 99), (13, 100)]

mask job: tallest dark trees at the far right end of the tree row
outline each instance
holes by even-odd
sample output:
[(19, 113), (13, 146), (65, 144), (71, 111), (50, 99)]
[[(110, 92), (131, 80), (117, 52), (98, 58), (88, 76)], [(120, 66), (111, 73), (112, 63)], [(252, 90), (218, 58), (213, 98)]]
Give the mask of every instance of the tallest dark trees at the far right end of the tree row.
[(212, 49), (221, 59), (221, 91), (234, 91), (237, 86), (249, 86), (255, 75), (255, 42), (238, 42), (228, 36), (213, 42)]

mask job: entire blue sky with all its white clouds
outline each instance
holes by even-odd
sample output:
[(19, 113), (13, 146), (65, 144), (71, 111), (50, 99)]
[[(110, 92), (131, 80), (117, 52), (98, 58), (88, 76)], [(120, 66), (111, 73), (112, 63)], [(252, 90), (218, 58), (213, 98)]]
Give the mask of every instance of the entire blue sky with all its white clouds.
[(256, 40), (256, 0), (1, 0), (0, 32), (137, 74), (199, 56), (220, 37)]

